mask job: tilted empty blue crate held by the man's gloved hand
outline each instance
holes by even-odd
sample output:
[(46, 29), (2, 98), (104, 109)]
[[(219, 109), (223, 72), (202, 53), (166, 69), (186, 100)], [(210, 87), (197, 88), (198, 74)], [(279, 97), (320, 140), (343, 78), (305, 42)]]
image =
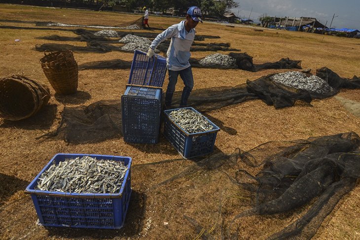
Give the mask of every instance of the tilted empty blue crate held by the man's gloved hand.
[(166, 58), (158, 54), (148, 58), (145, 52), (135, 50), (128, 83), (162, 87), (166, 71)]

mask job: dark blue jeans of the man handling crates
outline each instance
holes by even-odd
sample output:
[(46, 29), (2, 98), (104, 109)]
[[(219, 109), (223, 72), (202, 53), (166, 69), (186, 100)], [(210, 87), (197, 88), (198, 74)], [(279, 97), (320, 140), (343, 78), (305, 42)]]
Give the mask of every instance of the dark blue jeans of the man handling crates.
[(165, 96), (166, 106), (171, 106), (171, 102), (173, 99), (173, 94), (175, 92), (176, 83), (178, 82), (179, 74), (185, 85), (184, 88), (182, 89), (180, 107), (186, 106), (187, 99), (189, 98), (191, 90), (194, 87), (194, 78), (192, 76), (191, 67), (188, 67), (187, 69), (182, 69), (180, 71), (169, 70), (169, 84)]

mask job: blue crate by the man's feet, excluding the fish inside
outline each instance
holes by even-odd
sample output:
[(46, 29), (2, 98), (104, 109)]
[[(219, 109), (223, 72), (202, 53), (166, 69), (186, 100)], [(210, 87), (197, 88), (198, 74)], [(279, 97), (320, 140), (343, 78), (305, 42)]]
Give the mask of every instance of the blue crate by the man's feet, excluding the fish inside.
[[(220, 128), (204, 116), (214, 128), (202, 133), (188, 134), (169, 116), (170, 112), (179, 109), (180, 108), (164, 111), (164, 136), (175, 149), (178, 150), (183, 158), (193, 158), (213, 152), (216, 135), (217, 132), (220, 131)], [(185, 107), (185, 109), (191, 109), (194, 112), (200, 113), (192, 107)]]

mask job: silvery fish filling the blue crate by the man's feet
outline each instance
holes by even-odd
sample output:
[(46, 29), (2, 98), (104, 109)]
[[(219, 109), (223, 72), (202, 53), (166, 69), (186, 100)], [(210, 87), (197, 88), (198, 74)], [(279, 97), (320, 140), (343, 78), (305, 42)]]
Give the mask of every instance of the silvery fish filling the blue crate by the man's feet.
[(191, 109), (180, 108), (170, 112), (169, 116), (189, 134), (202, 133), (214, 128), (203, 115)]

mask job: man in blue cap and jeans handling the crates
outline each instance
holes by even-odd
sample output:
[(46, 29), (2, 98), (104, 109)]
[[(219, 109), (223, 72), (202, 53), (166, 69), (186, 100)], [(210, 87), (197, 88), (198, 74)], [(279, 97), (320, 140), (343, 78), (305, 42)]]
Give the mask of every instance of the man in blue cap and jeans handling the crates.
[(170, 46), (167, 51), (167, 68), (169, 72), (169, 84), (165, 96), (165, 108), (171, 107), (175, 86), (180, 75), (184, 82), (184, 88), (181, 95), (180, 107), (185, 107), (190, 92), (194, 86), (191, 66), (189, 63), (190, 47), (195, 38), (195, 27), (201, 20), (201, 10), (197, 6), (189, 8), (186, 14), (186, 20), (179, 24), (170, 26), (167, 30), (157, 35), (152, 41), (147, 52), (148, 57), (155, 55), (155, 48), (165, 39), (171, 38)]

